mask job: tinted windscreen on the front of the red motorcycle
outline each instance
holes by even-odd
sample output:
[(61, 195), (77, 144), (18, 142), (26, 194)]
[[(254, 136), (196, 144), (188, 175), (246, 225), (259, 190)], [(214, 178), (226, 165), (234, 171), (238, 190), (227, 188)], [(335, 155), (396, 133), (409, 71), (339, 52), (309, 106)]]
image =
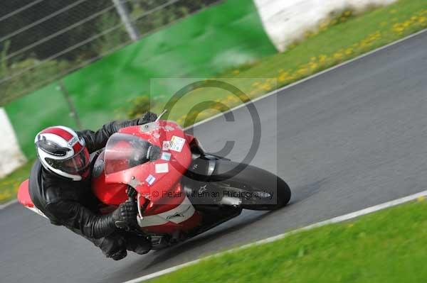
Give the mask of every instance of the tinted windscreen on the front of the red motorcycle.
[(142, 165), (151, 160), (156, 146), (143, 138), (115, 133), (105, 146), (105, 174), (112, 174)]

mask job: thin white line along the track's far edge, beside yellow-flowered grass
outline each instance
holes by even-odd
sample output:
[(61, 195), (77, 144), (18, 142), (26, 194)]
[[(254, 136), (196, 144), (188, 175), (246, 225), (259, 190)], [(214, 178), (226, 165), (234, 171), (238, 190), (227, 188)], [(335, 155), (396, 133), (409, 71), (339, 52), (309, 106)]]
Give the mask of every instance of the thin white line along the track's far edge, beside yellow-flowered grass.
[(360, 60), (360, 59), (362, 59), (362, 58), (364, 58), (364, 57), (367, 57), (367, 56), (369, 56), (369, 55), (372, 55), (372, 54), (374, 54), (374, 53), (376, 53), (376, 52), (379, 52), (379, 51), (384, 50), (384, 49), (386, 49), (386, 48), (389, 48), (389, 47), (391, 47), (391, 46), (393, 46), (393, 45), (399, 44), (399, 43), (401, 43), (402, 41), (408, 40), (408, 39), (410, 39), (410, 38), (414, 38), (414, 37), (416, 37), (416, 36), (418, 36), (418, 35), (421, 35), (422, 33), (426, 33), (426, 32), (427, 32), (427, 28), (425, 28), (425, 29), (423, 29), (423, 30), (418, 31), (417, 33), (413, 33), (413, 34), (411, 34), (411, 35), (408, 35), (408, 36), (406, 36), (406, 38), (401, 38), (401, 39), (396, 40), (396, 41), (394, 41), (394, 42), (392, 42), (392, 43), (389, 43), (389, 44), (387, 44), (387, 45), (384, 45), (384, 46), (382, 46), (382, 47), (380, 47), (380, 48), (376, 48), (376, 49), (374, 49), (374, 50), (372, 50), (372, 51), (369, 51), (369, 52), (367, 52), (367, 53), (364, 53), (364, 54), (362, 54), (362, 55), (359, 55), (359, 56), (357, 56), (357, 57), (354, 57), (354, 58), (353, 58), (353, 59), (351, 59), (351, 60), (347, 60), (347, 61), (345, 61), (345, 62), (342, 62), (342, 63), (341, 63), (341, 64), (339, 64), (339, 65), (335, 65), (334, 67), (330, 67), (330, 68), (329, 68), (329, 69), (327, 69), (327, 70), (323, 70), (322, 72), (318, 72), (318, 73), (316, 73), (316, 74), (312, 74), (310, 77), (306, 77), (305, 79), (301, 79), (301, 80), (299, 80), (299, 81), (297, 81), (297, 82), (294, 82), (294, 83), (292, 83), (292, 84), (288, 84), (287, 86), (285, 86), (285, 87), (281, 87), (280, 89), (275, 89), (274, 91), (271, 91), (271, 92), (269, 92), (268, 94), (264, 94), (263, 96), (260, 96), (260, 97), (258, 97), (257, 99), (253, 99), (253, 100), (248, 101), (248, 102), (246, 102), (246, 103), (244, 103), (244, 104), (240, 104), (240, 105), (238, 105), (238, 106), (236, 106), (236, 107), (233, 107), (232, 109), (229, 109), (228, 111), (224, 111), (223, 113), (218, 113), (218, 114), (216, 114), (216, 115), (214, 115), (214, 116), (212, 116), (212, 117), (210, 117), (210, 118), (206, 118), (206, 119), (204, 119), (203, 121), (200, 121), (200, 122), (198, 122), (198, 123), (195, 123), (194, 125), (188, 126), (188, 127), (186, 127), (186, 128), (184, 129), (184, 131), (187, 131), (187, 130), (189, 130), (190, 128), (194, 128), (194, 127), (196, 127), (196, 126), (199, 126), (199, 125), (201, 125), (201, 124), (203, 124), (203, 123), (206, 123), (206, 122), (209, 122), (209, 121), (211, 121), (211, 120), (214, 120), (214, 119), (216, 119), (216, 118), (218, 118), (218, 117), (220, 117), (220, 116), (223, 116), (223, 115), (224, 115), (224, 114), (226, 114), (226, 113), (229, 113), (229, 112), (235, 111), (235, 110), (237, 110), (237, 109), (239, 109), (239, 108), (242, 108), (243, 106), (246, 106), (246, 105), (248, 105), (248, 104), (254, 103), (254, 102), (258, 101), (258, 100), (265, 99), (266, 97), (271, 96), (271, 95), (273, 95), (273, 94), (278, 94), (278, 92), (283, 91), (283, 90), (285, 90), (285, 89), (290, 89), (291, 87), (295, 87), (297, 84), (302, 84), (303, 82), (307, 82), (308, 80), (310, 80), (310, 79), (314, 79), (315, 77), (320, 77), (322, 74), (325, 74), (325, 73), (327, 73), (327, 72), (331, 72), (331, 71), (333, 71), (333, 70), (335, 70), (335, 69), (338, 69), (338, 68), (340, 68), (340, 67), (342, 67), (342, 66), (344, 66), (344, 65), (347, 65), (347, 64), (350, 64), (350, 63), (352, 63), (352, 62), (354, 62), (354, 61)]

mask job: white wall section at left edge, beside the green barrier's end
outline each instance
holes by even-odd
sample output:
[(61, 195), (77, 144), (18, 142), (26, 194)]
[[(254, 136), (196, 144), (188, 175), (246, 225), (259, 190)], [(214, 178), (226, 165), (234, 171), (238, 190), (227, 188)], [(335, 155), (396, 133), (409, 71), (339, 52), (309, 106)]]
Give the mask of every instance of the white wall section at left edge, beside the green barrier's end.
[(14, 128), (4, 109), (0, 108), (0, 177), (23, 165), (26, 158), (19, 148)]

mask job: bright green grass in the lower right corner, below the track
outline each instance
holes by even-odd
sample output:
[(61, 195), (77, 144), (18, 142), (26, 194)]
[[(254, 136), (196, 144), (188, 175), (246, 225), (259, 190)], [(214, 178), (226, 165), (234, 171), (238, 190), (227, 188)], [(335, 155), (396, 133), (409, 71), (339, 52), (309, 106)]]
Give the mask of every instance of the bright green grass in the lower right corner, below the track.
[(152, 279), (169, 282), (426, 282), (427, 203), (397, 206)]

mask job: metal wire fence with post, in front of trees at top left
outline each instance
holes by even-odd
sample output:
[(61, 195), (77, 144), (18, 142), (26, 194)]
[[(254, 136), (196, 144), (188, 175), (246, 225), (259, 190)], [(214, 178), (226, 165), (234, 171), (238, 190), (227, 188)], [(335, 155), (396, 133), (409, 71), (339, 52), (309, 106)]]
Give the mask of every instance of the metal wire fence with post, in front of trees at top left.
[(0, 105), (219, 1), (4, 1)]

